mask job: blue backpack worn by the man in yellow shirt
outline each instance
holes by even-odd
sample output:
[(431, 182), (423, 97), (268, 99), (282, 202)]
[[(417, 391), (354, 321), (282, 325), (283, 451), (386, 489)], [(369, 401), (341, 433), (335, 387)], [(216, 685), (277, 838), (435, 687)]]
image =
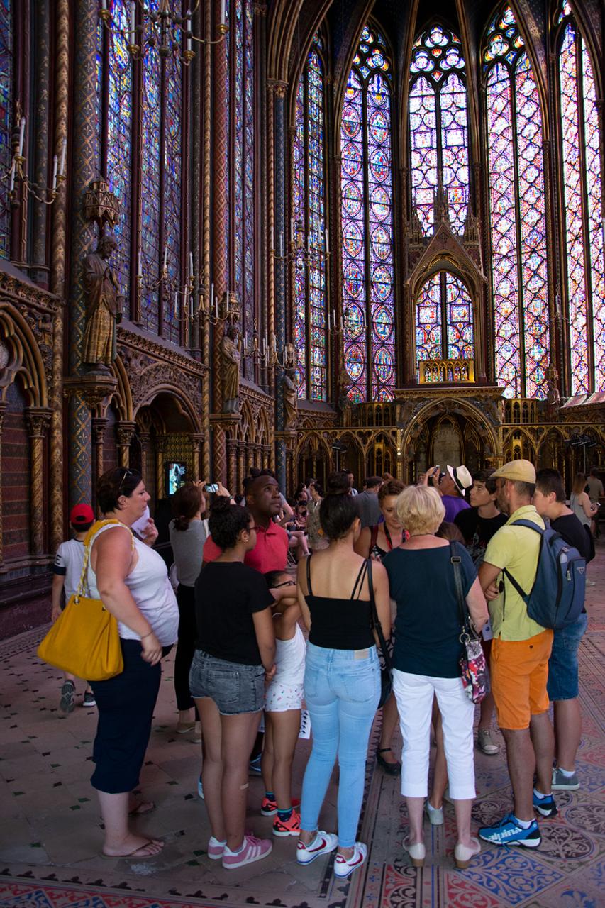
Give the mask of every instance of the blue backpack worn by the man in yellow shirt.
[(529, 593), (504, 569), (527, 605), (527, 614), (541, 627), (557, 630), (572, 624), (584, 607), (586, 560), (554, 529), (542, 529), (531, 520), (515, 520), (511, 527), (535, 529), (541, 536), (538, 569)]

